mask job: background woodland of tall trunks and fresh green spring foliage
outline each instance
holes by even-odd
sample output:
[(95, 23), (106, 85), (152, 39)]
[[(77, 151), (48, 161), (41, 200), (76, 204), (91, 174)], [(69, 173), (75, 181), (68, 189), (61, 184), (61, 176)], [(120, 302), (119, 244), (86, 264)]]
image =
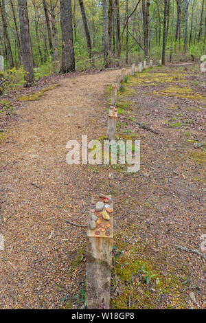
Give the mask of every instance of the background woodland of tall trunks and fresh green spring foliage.
[(23, 65), (26, 86), (54, 71), (128, 65), (134, 58), (194, 60), (205, 50), (204, 2), (1, 0), (0, 54), (10, 73)]

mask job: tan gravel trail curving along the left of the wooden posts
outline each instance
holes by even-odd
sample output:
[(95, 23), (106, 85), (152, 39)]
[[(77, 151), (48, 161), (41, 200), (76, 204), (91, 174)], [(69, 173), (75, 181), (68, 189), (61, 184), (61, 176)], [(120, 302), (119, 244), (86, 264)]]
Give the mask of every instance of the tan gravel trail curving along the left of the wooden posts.
[(99, 117), (106, 107), (104, 90), (117, 73), (60, 80), (60, 87), (17, 111), (21, 120), (1, 143), (1, 309), (56, 307), (61, 289), (56, 286), (72, 285), (64, 262), (84, 241), (85, 230), (65, 219), (68, 212), (74, 222), (87, 223), (87, 200), (69, 194), (88, 198), (92, 188), (87, 166), (76, 184), (80, 166), (67, 165), (65, 146), (68, 140), (81, 142), (82, 134), (91, 139), (106, 134)]

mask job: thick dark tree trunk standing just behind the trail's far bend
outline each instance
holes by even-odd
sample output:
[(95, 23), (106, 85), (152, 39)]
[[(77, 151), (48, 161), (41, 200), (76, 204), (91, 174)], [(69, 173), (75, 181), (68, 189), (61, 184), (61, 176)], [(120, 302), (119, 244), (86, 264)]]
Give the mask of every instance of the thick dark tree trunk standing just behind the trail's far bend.
[(62, 30), (62, 65), (60, 73), (75, 71), (71, 0), (60, 0)]

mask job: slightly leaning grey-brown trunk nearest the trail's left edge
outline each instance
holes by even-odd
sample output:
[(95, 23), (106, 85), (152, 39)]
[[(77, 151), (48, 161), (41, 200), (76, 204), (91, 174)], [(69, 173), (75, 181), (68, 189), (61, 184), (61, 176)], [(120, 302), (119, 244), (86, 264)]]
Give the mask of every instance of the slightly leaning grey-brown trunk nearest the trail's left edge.
[(34, 69), (32, 58), (32, 44), (30, 38), (30, 25), (27, 11), (27, 0), (18, 0), (18, 5), (23, 69), (25, 70), (24, 87), (32, 87), (34, 85)]

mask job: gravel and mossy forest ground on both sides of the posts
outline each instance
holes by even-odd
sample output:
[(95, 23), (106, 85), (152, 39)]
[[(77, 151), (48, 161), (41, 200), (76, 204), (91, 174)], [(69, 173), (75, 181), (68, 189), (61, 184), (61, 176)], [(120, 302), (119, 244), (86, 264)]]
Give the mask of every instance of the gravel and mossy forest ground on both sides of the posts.
[(0, 139), (1, 309), (82, 305), (87, 229), (65, 220), (87, 225), (96, 192), (113, 194), (115, 216), (122, 216), (115, 227), (111, 308), (205, 308), (205, 259), (176, 249), (204, 253), (206, 152), (196, 144), (206, 141), (205, 76), (196, 65), (174, 65), (128, 77), (118, 93), (117, 136), (141, 140), (139, 172), (69, 166), (69, 140), (104, 139), (117, 74), (58, 78), (32, 98), (22, 98), (28, 94), (22, 90), (21, 109), (16, 103)]

